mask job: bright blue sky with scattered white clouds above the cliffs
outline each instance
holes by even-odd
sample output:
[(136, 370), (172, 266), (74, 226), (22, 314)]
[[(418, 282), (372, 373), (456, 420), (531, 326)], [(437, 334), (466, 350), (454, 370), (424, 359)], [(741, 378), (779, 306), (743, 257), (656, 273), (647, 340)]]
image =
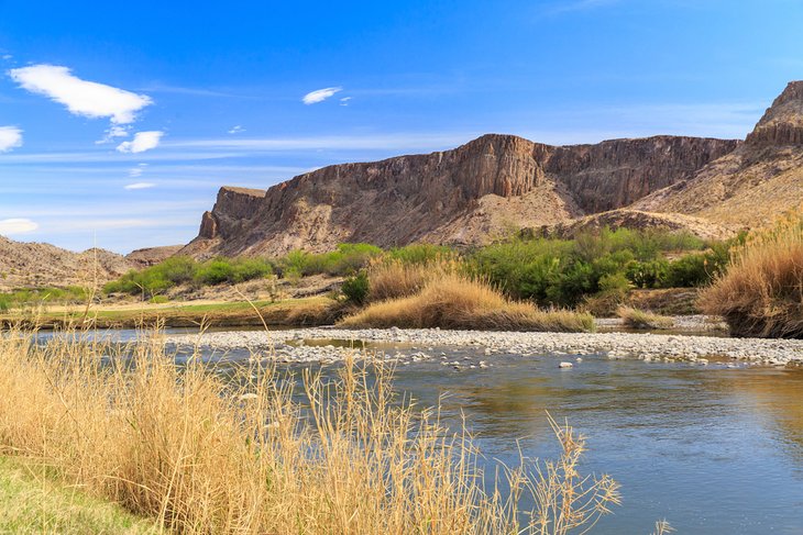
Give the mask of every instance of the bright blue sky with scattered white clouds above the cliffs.
[(0, 0), (0, 233), (186, 243), (222, 185), (486, 132), (744, 137), (802, 27), (799, 0)]

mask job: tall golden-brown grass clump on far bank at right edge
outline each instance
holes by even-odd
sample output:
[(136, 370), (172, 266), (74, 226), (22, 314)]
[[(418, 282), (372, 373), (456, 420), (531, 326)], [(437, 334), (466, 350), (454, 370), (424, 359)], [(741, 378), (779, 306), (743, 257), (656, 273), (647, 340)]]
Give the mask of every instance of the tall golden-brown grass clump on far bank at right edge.
[(803, 338), (803, 212), (748, 236), (700, 303), (737, 336)]

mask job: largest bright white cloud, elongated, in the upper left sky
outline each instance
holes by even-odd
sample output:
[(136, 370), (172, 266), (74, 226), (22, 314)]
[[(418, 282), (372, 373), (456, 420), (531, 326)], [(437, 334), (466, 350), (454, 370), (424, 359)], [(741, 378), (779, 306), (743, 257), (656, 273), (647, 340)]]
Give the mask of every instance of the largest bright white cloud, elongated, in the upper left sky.
[(135, 114), (153, 101), (146, 94), (81, 80), (69, 68), (58, 65), (32, 65), (9, 70), (23, 89), (62, 103), (70, 113), (88, 118), (110, 118), (112, 124), (134, 122)]

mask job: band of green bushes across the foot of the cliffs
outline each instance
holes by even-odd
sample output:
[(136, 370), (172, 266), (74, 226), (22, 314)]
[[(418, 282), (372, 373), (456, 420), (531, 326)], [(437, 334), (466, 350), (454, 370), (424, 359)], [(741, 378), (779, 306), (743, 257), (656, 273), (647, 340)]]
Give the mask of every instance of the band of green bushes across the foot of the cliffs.
[(630, 288), (697, 287), (711, 282), (728, 263), (733, 242), (706, 242), (686, 233), (607, 229), (573, 239), (516, 237), (458, 250), (426, 244), (381, 249), (341, 244), (312, 254), (293, 250), (278, 258), (168, 258), (106, 285), (106, 293), (153, 298), (180, 285), (239, 283), (265, 277), (299, 279), (326, 274), (346, 277), (345, 292), (361, 301), (369, 291), (369, 267), (380, 263), (422, 265), (451, 261), (458, 271), (482, 278), (512, 299), (573, 306), (590, 296)]

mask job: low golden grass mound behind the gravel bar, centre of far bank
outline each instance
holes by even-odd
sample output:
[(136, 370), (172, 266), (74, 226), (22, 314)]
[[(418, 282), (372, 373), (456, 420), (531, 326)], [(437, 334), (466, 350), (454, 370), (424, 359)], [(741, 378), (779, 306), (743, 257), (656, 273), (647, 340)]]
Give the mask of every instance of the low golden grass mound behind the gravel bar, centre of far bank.
[(544, 311), (510, 301), (483, 281), (453, 274), (430, 279), (414, 296), (371, 304), (344, 319), (341, 325), (583, 332), (594, 328), (594, 320), (590, 314)]

